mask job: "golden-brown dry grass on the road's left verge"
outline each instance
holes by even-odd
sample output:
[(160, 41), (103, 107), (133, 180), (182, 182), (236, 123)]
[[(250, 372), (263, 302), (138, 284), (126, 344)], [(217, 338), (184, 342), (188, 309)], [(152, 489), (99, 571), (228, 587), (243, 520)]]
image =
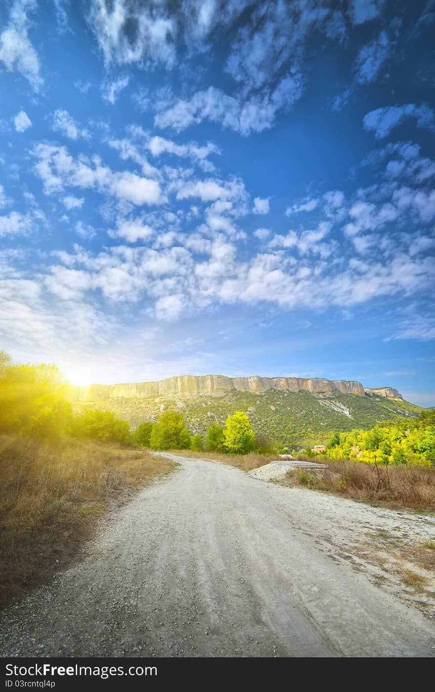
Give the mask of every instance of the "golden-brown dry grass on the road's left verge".
[(0, 435), (0, 605), (53, 576), (109, 507), (173, 468), (142, 450)]

